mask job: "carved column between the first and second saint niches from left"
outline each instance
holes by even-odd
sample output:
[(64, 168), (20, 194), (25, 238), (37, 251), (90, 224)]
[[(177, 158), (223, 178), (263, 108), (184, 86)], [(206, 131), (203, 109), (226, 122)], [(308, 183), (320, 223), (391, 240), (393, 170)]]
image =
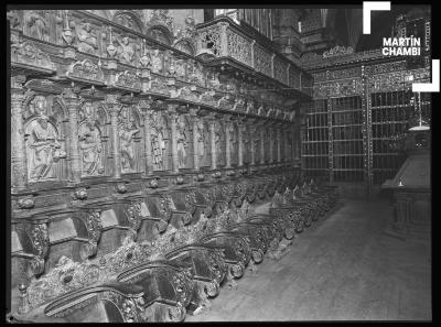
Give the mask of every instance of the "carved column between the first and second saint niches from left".
[(69, 157), (71, 157), (71, 178), (78, 183), (82, 176), (78, 149), (78, 97), (72, 88), (65, 88), (63, 91), (64, 100), (69, 117)]

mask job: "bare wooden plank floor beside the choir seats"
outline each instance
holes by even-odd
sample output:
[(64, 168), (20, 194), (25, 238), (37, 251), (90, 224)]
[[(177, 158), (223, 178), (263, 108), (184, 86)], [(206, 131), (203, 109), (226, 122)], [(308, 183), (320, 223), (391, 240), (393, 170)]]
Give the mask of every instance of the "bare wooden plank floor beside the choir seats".
[(185, 321), (430, 320), (429, 242), (387, 236), (390, 217), (388, 203), (344, 200)]

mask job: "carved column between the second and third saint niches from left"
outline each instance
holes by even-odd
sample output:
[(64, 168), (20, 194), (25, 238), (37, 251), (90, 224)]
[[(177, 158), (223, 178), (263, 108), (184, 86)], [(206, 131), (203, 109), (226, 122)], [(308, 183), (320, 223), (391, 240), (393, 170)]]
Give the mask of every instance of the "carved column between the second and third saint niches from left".
[(110, 127), (111, 127), (111, 155), (112, 155), (112, 171), (114, 178), (121, 178), (121, 152), (119, 149), (119, 127), (118, 115), (121, 105), (118, 102), (117, 95), (107, 95), (106, 102), (110, 111)]

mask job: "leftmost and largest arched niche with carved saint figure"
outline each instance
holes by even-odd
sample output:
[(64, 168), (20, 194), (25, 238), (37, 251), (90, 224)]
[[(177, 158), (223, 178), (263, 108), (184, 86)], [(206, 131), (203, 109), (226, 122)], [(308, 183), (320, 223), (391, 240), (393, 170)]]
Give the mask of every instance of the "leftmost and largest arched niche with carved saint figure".
[(24, 105), (28, 181), (62, 179), (66, 176), (67, 155), (65, 110), (53, 96), (30, 94)]

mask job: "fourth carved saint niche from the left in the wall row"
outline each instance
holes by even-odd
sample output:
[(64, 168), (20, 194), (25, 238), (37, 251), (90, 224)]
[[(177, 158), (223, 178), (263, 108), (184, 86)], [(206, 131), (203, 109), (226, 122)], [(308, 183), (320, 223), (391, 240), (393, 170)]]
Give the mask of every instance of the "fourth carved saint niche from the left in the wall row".
[(166, 117), (160, 111), (151, 115), (151, 149), (153, 157), (153, 170), (165, 171), (169, 167), (169, 122)]

